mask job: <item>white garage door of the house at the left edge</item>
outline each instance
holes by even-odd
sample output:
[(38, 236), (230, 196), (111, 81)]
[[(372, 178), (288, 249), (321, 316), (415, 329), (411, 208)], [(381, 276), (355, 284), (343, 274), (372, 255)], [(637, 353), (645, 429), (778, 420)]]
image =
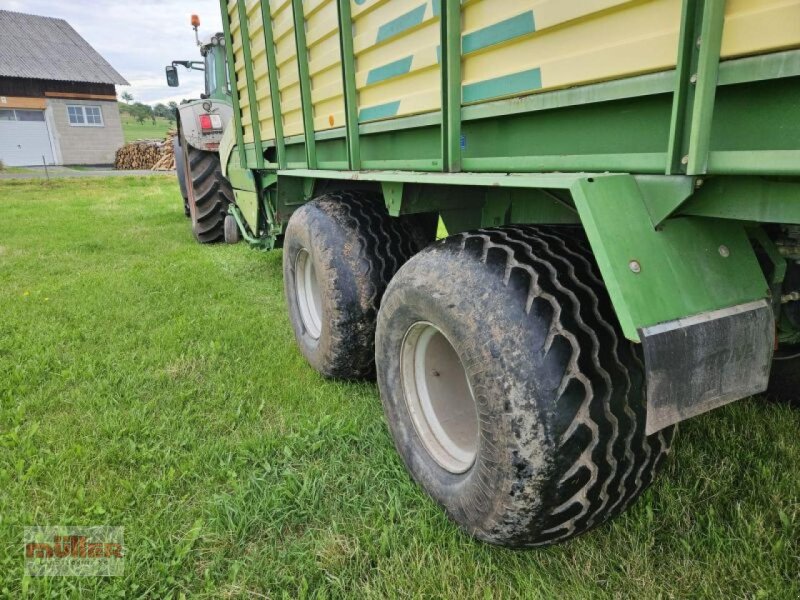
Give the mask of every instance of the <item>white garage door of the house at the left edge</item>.
[(53, 164), (53, 148), (42, 110), (0, 110), (0, 160), (9, 167)]

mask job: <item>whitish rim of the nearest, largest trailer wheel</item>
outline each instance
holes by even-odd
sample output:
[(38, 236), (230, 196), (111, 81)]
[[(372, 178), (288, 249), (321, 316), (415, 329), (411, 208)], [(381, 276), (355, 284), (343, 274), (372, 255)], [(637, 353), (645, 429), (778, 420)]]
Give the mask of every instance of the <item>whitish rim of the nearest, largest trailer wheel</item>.
[(478, 454), (480, 425), (453, 345), (435, 325), (414, 323), (403, 338), (400, 371), (406, 407), (425, 450), (451, 473), (469, 470)]

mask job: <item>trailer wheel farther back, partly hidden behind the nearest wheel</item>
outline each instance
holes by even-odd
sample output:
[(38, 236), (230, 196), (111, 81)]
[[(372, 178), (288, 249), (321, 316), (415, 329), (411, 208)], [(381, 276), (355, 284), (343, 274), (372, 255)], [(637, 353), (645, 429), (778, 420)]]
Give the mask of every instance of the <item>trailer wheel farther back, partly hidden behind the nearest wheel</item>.
[(378, 306), (419, 250), (408, 227), (379, 197), (337, 192), (294, 212), (283, 247), (289, 318), (303, 355), (326, 377), (372, 377)]

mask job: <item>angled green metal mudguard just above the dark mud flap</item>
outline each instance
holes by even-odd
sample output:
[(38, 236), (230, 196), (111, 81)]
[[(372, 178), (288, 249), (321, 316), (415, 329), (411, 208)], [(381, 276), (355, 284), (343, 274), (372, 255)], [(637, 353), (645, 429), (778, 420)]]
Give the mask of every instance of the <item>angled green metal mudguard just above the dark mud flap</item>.
[(769, 286), (741, 223), (681, 217), (656, 230), (636, 179), (572, 186), (626, 337), (643, 327), (760, 300)]

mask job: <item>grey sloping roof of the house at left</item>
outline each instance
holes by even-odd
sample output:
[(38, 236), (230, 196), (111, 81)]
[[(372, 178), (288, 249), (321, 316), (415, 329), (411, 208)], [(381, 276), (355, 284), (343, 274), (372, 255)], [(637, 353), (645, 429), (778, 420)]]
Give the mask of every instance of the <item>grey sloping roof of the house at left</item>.
[(64, 19), (0, 10), (0, 77), (128, 85)]

